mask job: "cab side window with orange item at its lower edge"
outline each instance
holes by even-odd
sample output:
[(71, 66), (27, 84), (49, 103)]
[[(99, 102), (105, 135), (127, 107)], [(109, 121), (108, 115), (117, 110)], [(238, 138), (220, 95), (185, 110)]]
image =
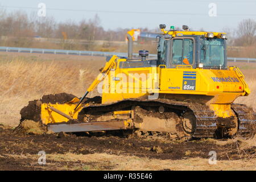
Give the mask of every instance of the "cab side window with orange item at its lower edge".
[(172, 40), (172, 64), (182, 64), (182, 65), (193, 64), (193, 40), (192, 39)]

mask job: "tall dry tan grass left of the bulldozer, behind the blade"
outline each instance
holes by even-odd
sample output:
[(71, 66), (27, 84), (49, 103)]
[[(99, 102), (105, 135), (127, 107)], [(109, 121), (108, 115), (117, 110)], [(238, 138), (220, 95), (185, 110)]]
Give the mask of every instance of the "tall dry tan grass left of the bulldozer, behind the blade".
[[(98, 60), (97, 60), (98, 59)], [(19, 111), (28, 101), (44, 94), (71, 93), (78, 97), (102, 67), (104, 57), (84, 57), (84, 60), (45, 60), (12, 57), (0, 60), (0, 123), (15, 126)], [(90, 96), (95, 93), (90, 94)]]

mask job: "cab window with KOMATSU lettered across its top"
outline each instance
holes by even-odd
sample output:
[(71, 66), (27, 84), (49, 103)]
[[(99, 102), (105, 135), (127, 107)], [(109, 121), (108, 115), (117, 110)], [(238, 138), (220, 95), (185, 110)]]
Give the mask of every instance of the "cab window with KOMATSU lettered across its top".
[(201, 39), (200, 62), (204, 67), (225, 68), (225, 44), (223, 39)]

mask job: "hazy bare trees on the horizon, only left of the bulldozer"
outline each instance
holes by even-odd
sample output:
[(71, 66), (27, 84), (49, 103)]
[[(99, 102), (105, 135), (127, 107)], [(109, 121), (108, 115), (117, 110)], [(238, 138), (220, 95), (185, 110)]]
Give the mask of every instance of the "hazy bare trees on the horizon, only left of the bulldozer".
[[(129, 28), (104, 30), (100, 25), (100, 17), (96, 14), (93, 18), (82, 19), (80, 22), (67, 20), (57, 22), (53, 17), (39, 17), (36, 13), (28, 15), (24, 11), (0, 13), (0, 36), (63, 38), (63, 32), (68, 39), (84, 40), (125, 40)], [(141, 28), (148, 31), (147, 28)]]

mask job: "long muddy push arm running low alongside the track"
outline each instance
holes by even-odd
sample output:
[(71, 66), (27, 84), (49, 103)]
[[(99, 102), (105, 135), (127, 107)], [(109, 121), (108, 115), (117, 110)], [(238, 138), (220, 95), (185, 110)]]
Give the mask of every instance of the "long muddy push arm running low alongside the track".
[(57, 124), (48, 125), (47, 129), (55, 133), (66, 132), (86, 132), (86, 131), (105, 131), (105, 130), (122, 130), (132, 129), (132, 125), (128, 121), (104, 121), (104, 122), (88, 122), (73, 124)]

